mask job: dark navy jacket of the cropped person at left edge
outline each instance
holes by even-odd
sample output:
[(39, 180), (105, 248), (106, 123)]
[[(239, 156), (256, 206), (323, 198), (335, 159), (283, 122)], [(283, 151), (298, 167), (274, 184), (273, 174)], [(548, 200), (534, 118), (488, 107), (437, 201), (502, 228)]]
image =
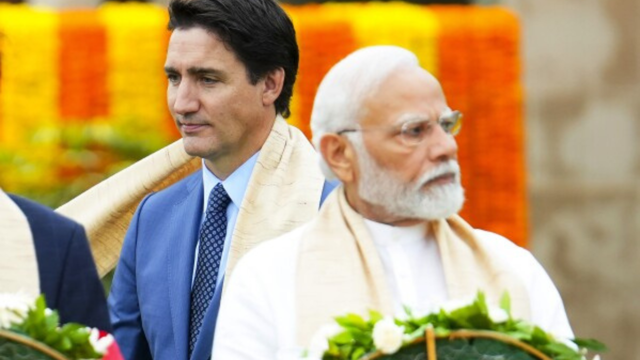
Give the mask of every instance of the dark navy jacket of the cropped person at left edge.
[(9, 196), (29, 222), (47, 306), (58, 310), (61, 323), (111, 332), (104, 288), (83, 227), (36, 202)]

